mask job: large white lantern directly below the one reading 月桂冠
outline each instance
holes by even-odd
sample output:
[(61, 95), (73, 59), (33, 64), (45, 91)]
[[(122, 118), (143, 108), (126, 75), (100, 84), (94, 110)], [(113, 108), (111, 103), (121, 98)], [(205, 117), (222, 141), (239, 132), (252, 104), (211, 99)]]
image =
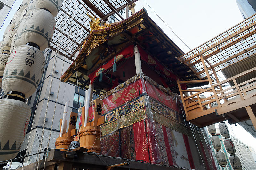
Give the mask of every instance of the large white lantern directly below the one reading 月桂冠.
[(15, 158), (24, 141), (30, 107), (19, 100), (0, 99), (0, 161)]

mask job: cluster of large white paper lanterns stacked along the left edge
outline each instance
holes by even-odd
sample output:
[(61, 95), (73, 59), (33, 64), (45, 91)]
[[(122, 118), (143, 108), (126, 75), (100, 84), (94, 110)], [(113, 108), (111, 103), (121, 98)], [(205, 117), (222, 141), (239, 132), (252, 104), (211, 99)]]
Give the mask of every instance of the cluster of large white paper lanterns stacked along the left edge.
[(0, 161), (13, 159), (24, 141), (31, 114), (25, 98), (42, 77), (42, 51), (50, 44), (61, 5), (62, 0), (23, 0), (0, 42)]

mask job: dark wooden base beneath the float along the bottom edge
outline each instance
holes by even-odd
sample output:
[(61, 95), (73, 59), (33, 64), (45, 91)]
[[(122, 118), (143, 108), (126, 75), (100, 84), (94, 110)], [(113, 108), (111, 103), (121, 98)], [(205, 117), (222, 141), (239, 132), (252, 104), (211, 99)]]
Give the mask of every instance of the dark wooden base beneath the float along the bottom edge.
[[(44, 167), (44, 159), (30, 165), (24, 166), (23, 170), (33, 170), (36, 164), (39, 163), (39, 170)], [(126, 164), (118, 166), (117, 164)], [(115, 157), (108, 157), (103, 155), (96, 155), (90, 152), (67, 152), (60, 150), (51, 150), (46, 159), (45, 170), (186, 170), (186, 168), (179, 168), (177, 166), (163, 166), (157, 164), (150, 164), (130, 159), (122, 159)], [(35, 168), (35, 169), (36, 169)], [(22, 170), (22, 167), (18, 170)]]

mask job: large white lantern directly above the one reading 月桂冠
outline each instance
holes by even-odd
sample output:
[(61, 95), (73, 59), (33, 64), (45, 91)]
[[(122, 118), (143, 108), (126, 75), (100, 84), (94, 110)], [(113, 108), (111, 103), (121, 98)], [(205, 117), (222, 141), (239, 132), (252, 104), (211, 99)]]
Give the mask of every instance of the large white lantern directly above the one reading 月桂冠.
[(21, 32), (23, 44), (35, 43), (43, 51), (48, 47), (55, 29), (55, 19), (52, 14), (43, 9), (31, 11)]

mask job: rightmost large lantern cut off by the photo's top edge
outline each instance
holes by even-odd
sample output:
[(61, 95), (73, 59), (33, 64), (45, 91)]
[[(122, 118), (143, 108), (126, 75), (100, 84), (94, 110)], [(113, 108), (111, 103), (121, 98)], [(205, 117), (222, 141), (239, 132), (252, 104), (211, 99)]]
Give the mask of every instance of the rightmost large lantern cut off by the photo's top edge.
[(47, 9), (53, 17), (56, 17), (60, 11), (62, 0), (36, 0), (36, 8)]

